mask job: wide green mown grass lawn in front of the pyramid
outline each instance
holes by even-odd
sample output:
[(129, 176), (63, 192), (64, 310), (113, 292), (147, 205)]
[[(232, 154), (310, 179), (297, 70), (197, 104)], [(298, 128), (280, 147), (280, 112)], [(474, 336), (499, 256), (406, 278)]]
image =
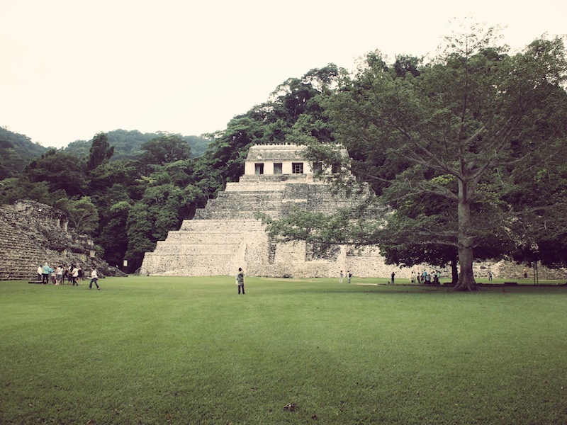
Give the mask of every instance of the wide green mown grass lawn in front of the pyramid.
[(0, 424), (567, 423), (565, 285), (385, 282), (0, 282)]

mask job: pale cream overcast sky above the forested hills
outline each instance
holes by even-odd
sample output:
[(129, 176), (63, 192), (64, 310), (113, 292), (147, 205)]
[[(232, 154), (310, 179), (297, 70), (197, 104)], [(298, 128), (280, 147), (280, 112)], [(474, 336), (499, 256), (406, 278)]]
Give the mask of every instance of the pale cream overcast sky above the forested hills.
[(0, 126), (45, 147), (223, 130), (289, 77), (433, 53), (471, 15), (512, 50), (567, 33), (565, 0), (0, 0)]

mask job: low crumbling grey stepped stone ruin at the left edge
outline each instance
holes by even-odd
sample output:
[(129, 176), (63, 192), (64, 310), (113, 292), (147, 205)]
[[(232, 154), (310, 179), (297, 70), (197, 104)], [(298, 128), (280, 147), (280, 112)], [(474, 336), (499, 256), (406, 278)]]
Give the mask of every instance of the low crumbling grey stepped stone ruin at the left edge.
[(0, 280), (35, 280), (38, 264), (96, 263), (102, 276), (125, 276), (96, 255), (94, 243), (67, 228), (60, 210), (33, 200), (0, 205)]

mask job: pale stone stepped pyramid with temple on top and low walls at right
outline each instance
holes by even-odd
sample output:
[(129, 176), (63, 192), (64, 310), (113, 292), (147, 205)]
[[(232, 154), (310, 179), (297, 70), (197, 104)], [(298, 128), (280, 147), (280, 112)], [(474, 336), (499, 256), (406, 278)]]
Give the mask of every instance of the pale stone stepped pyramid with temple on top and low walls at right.
[[(305, 242), (269, 240), (265, 226), (255, 218), (257, 211), (278, 218), (293, 208), (332, 213), (357, 202), (357, 198), (333, 195), (330, 185), (315, 177), (313, 171), (320, 171), (318, 166), (306, 162), (302, 151), (301, 146), (291, 144), (252, 146), (240, 180), (227, 183), (225, 191), (197, 210), (192, 220), (184, 220), (179, 230), (157, 242), (155, 251), (145, 254), (140, 273), (230, 276), (242, 267), (249, 276), (337, 277), (342, 270), (359, 277), (383, 278), (395, 271), (396, 277), (409, 278), (412, 271), (436, 269), (388, 266), (378, 248), (357, 251), (352, 246), (335, 246), (325, 258), (317, 258)], [(342, 154), (347, 155), (346, 149)], [(488, 271), (492, 271), (495, 278), (521, 278), (524, 268), (503, 261), (477, 263), (475, 275), (488, 278)], [(445, 278), (451, 276), (449, 268), (440, 271)], [(540, 271), (540, 278), (566, 277), (564, 270)]]

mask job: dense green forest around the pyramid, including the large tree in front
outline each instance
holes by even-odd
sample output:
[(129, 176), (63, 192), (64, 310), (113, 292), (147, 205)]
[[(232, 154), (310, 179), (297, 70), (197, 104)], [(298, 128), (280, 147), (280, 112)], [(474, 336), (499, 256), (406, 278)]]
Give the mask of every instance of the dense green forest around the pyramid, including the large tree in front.
[[(321, 249), (377, 244), (401, 266), (451, 263), (467, 290), (478, 259), (565, 266), (563, 41), (541, 38), (510, 55), (492, 29), (447, 40), (427, 61), (388, 63), (376, 51), (352, 73), (328, 64), (287, 79), (206, 139), (116, 130), (32, 154), (21, 174), (4, 175), (0, 202), (62, 208), (109, 263), (127, 259), (135, 269), (157, 240), (239, 179), (249, 146), (290, 141), (313, 161), (342, 164), (331, 183), (354, 195), (366, 184), (374, 196), (334, 217), (263, 217), (273, 237)], [(337, 156), (335, 142), (351, 158)]]

